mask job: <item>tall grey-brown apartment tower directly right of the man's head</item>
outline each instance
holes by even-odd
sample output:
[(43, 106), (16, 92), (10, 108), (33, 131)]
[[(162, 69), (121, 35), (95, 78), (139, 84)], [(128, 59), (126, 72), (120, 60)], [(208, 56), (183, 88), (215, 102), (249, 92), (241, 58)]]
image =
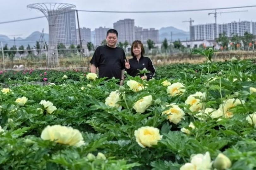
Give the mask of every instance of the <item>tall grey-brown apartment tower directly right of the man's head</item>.
[(132, 43), (135, 39), (134, 20), (124, 19), (115, 22), (114, 29), (118, 31), (118, 41)]

